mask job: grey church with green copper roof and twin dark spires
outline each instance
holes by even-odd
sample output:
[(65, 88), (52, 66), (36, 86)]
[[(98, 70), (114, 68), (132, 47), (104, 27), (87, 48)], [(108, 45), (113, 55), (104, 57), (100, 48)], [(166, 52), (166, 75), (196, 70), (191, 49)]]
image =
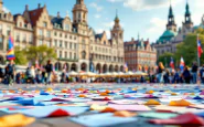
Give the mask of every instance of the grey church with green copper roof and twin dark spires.
[(165, 52), (174, 53), (176, 51), (176, 45), (183, 42), (185, 36), (189, 33), (192, 33), (193, 31), (194, 25), (192, 22), (189, 3), (186, 3), (185, 6), (184, 22), (182, 22), (182, 27), (179, 28), (179, 31), (175, 23), (173, 9), (172, 6), (170, 4), (167, 30), (153, 44), (154, 47), (157, 49), (158, 56), (162, 55)]

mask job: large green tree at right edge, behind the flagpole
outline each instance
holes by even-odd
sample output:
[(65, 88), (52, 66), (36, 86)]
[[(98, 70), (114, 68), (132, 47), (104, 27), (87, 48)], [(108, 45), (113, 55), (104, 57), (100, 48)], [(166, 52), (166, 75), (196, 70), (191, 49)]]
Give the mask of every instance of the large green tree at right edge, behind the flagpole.
[[(198, 29), (194, 33), (186, 35), (184, 42), (178, 45), (175, 57), (180, 60), (183, 56), (185, 65), (191, 66), (193, 62), (197, 61), (197, 34), (202, 42), (202, 49), (204, 49), (204, 30)], [(201, 64), (204, 63), (204, 54), (201, 57)]]

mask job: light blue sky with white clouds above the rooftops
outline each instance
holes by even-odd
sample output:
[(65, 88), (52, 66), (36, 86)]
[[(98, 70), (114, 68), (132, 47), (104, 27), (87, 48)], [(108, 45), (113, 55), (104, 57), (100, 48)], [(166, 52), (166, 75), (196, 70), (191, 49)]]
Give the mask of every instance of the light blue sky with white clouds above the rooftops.
[[(49, 13), (56, 15), (57, 11), (62, 17), (68, 12), (72, 18), (72, 9), (76, 0), (3, 0), (4, 10), (11, 13), (22, 13), (24, 6), (35, 9), (37, 3), (46, 3)], [(13, 2), (15, 1), (15, 2)], [(96, 32), (106, 31), (109, 36), (109, 30), (114, 24), (116, 10), (125, 30), (125, 41), (131, 38), (138, 39), (138, 33), (142, 39), (149, 39), (151, 42), (165, 30), (168, 22), (170, 0), (85, 0), (88, 8), (88, 23)], [(192, 19), (195, 25), (201, 23), (204, 14), (204, 0), (189, 0)], [(186, 0), (172, 0), (173, 12), (178, 27), (181, 27), (184, 20)]]

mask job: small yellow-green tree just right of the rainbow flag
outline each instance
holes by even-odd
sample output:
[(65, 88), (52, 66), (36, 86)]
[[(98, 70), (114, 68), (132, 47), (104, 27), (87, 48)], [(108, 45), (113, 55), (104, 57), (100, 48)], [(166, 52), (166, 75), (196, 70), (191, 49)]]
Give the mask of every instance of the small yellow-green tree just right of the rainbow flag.
[(28, 60), (24, 55), (24, 51), (22, 51), (19, 46), (14, 47), (14, 55), (15, 55), (15, 64), (17, 65), (26, 65)]

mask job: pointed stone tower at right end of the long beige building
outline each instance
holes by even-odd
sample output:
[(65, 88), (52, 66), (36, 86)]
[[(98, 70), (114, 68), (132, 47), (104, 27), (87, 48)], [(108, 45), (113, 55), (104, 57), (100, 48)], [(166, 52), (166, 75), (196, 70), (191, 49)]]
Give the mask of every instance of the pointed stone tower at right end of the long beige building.
[(118, 18), (117, 12), (116, 12), (116, 18), (115, 18), (115, 24), (110, 33), (111, 33), (111, 39), (124, 40), (124, 30), (121, 29), (120, 20)]

